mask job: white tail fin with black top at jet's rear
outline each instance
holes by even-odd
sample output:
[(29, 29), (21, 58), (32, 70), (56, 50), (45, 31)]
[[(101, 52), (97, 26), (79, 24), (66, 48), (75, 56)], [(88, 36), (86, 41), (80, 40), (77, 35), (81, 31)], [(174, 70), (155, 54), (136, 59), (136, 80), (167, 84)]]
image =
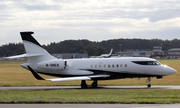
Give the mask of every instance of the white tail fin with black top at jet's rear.
[[(28, 57), (26, 64), (36, 68), (37, 63), (56, 59), (50, 55), (32, 36), (34, 32), (20, 32), (26, 54), (21, 57)], [(22, 65), (23, 66), (23, 65)], [(25, 67), (25, 66), (23, 66)]]

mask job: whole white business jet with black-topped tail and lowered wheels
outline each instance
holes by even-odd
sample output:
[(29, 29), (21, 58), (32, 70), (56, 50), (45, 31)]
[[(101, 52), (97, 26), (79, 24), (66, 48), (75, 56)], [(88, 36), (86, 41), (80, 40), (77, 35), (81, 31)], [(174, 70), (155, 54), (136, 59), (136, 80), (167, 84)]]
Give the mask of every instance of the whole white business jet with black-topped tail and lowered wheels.
[[(38, 80), (72, 81), (82, 80), (81, 88), (87, 88), (86, 80), (93, 80), (92, 87), (98, 86), (98, 80), (147, 77), (151, 87), (151, 78), (157, 79), (176, 73), (176, 70), (162, 65), (155, 59), (142, 57), (122, 58), (86, 58), (57, 59), (50, 55), (33, 37), (34, 32), (20, 32), (26, 54), (9, 58), (27, 57), (21, 66), (32, 72)], [(39, 74), (60, 78), (44, 79)]]

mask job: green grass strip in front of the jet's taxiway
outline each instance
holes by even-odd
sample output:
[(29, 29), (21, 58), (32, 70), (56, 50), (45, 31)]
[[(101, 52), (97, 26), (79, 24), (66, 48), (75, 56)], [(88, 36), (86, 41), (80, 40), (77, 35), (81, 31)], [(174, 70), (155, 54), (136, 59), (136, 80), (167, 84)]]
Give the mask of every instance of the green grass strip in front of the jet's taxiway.
[(180, 90), (4, 90), (0, 103), (180, 103)]

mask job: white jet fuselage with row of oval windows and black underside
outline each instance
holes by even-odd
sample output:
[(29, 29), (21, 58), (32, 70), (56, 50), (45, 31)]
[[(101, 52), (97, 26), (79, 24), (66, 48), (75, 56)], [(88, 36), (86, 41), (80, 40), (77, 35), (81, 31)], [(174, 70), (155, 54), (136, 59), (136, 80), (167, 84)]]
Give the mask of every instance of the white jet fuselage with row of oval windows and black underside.
[[(62, 63), (59, 61), (66, 61), (67, 65), (62, 68)], [(152, 61), (157, 62), (155, 59), (142, 58), (142, 57), (124, 57), (124, 58), (87, 58), (87, 59), (54, 59), (51, 61), (41, 62), (38, 64), (23, 64), (23, 67), (30, 65), (37, 65), (35, 69), (39, 73), (58, 76), (83, 76), (93, 74), (108, 74), (120, 73), (121, 74), (135, 74), (142, 76), (166, 76), (176, 73), (176, 70), (166, 65), (161, 64), (139, 64), (135, 62)], [(42, 67), (45, 68), (42, 68)], [(59, 67), (59, 69), (58, 69)], [(60, 69), (61, 68), (61, 69)], [(98, 72), (98, 73), (97, 73)]]

